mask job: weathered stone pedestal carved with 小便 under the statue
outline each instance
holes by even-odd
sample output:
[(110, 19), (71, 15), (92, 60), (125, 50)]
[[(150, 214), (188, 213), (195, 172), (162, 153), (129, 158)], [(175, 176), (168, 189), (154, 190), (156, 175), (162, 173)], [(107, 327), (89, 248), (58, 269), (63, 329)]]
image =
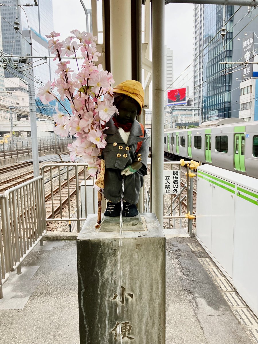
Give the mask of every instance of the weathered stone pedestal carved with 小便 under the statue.
[(78, 235), (80, 344), (165, 343), (165, 236), (155, 214), (141, 218), (121, 238), (90, 214)]

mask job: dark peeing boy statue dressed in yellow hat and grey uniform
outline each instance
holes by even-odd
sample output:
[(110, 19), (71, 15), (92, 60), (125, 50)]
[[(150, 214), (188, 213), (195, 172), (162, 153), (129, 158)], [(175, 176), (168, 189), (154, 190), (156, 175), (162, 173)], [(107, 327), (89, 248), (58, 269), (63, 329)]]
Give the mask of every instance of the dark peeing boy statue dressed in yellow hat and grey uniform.
[(107, 123), (107, 145), (103, 149), (105, 176), (103, 194), (108, 200), (105, 216), (120, 216), (122, 180), (124, 192), (122, 216), (138, 215), (143, 176), (147, 175), (149, 154), (148, 136), (143, 125), (136, 120), (144, 104), (141, 83), (127, 80), (114, 87), (116, 113)]

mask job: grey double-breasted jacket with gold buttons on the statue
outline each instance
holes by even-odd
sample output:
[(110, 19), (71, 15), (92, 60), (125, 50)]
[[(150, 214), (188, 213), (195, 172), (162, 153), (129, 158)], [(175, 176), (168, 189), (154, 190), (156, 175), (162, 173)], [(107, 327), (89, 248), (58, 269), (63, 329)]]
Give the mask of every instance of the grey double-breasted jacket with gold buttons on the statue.
[[(103, 149), (106, 169), (123, 170), (134, 161), (139, 161), (138, 159), (141, 159), (140, 161), (147, 169), (147, 158), (149, 155), (148, 135), (146, 130), (144, 130), (144, 137), (140, 137), (142, 135), (140, 123), (136, 119), (133, 121), (127, 143), (121, 138), (112, 118), (106, 123), (106, 127), (109, 127), (105, 130), (107, 146)], [(142, 141), (142, 145), (139, 151), (136, 152), (137, 143), (140, 141)]]

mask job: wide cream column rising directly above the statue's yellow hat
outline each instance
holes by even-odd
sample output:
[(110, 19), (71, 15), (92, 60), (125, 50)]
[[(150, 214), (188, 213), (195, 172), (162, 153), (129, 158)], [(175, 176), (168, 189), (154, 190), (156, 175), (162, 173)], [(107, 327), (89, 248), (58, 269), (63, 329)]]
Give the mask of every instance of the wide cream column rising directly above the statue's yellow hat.
[(110, 72), (115, 85), (132, 78), (131, 0), (110, 0)]

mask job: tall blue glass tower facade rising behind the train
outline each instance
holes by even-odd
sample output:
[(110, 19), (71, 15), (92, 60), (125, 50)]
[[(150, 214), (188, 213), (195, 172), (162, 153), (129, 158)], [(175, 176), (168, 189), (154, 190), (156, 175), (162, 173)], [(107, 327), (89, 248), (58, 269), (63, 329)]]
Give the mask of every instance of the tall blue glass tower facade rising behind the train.
[[(231, 74), (222, 72), (232, 62), (233, 6), (226, 6), (226, 35), (221, 38), (223, 6), (204, 5), (203, 9), (203, 73), (202, 122), (230, 117)], [(215, 38), (214, 38), (215, 37)], [(212, 40), (213, 39), (213, 40)], [(212, 42), (210, 42), (212, 40)]]

